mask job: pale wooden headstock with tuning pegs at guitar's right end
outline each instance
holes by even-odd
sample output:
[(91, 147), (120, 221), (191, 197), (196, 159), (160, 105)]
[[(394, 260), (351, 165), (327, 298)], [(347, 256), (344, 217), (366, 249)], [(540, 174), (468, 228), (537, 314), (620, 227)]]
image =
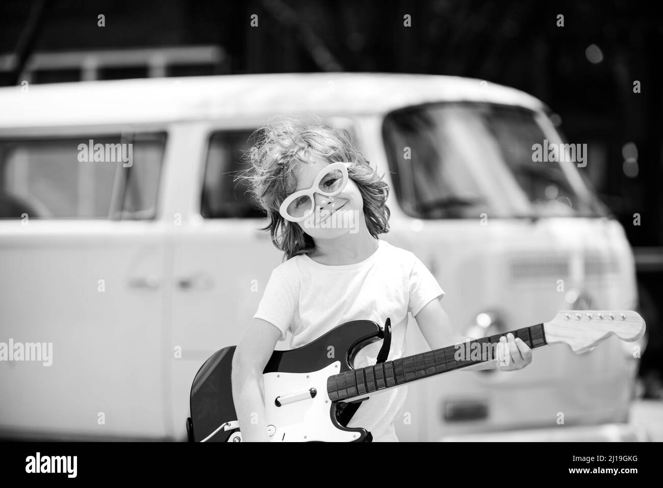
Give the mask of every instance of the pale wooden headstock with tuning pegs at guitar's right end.
[(615, 334), (623, 341), (636, 341), (644, 335), (644, 320), (633, 310), (560, 310), (544, 322), (546, 342), (564, 342), (576, 354), (591, 351)]

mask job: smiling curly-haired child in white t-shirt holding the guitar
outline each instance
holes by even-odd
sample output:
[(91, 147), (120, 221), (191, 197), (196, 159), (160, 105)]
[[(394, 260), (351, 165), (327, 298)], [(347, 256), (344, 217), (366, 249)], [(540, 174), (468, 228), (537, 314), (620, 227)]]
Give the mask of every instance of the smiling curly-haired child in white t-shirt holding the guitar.
[[(384, 326), (391, 318), (389, 361), (404, 353), (408, 312), (432, 349), (467, 340), (453, 333), (440, 304), (444, 291), (424, 264), (410, 251), (378, 239), (389, 231), (389, 186), (343, 131), (319, 117), (272, 121), (249, 161), (251, 191), (269, 217), (263, 230), (269, 229), (272, 243), (284, 251), (284, 262), (272, 271), (233, 357), (233, 398), (243, 441), (269, 440), (263, 370), (288, 330), (294, 349), (345, 322), (373, 320)], [(530, 363), (530, 348), (511, 334), (508, 341), (510, 361), (499, 369)], [(381, 345), (376, 341), (361, 349), (353, 366), (374, 365)], [(495, 366), (491, 361), (471, 369)], [(404, 385), (372, 395), (348, 426), (367, 429), (373, 442), (398, 442), (394, 420), (406, 392)]]

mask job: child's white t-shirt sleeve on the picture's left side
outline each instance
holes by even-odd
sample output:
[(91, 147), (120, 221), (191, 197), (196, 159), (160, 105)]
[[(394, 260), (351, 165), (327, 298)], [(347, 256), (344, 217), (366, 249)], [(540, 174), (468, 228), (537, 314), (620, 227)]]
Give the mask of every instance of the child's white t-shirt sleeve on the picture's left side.
[(267, 320), (281, 332), (279, 340), (284, 341), (292, 317), (294, 316), (295, 297), (292, 284), (281, 268), (272, 271), (263, 298), (253, 318)]

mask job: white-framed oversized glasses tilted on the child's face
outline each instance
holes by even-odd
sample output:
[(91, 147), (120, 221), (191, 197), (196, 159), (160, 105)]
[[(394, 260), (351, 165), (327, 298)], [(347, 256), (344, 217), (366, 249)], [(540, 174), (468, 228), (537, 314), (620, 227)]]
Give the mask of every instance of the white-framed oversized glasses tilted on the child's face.
[(315, 208), (315, 193), (334, 196), (347, 185), (347, 162), (332, 162), (316, 176), (311, 188), (294, 192), (283, 200), (279, 214), (290, 222), (300, 222), (308, 218)]

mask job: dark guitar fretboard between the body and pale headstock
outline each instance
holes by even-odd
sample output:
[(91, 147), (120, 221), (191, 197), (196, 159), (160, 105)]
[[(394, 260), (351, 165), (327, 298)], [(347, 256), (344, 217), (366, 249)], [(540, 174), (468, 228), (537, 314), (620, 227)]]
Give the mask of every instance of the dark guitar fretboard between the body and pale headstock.
[[(520, 337), (532, 349), (546, 345), (543, 324), (514, 330), (511, 333), (514, 337)], [(497, 357), (491, 355), (490, 352), (494, 350), (493, 344), (499, 343), (499, 338), (507, 334), (508, 332), (482, 337), (434, 351), (331, 375), (327, 380), (327, 392), (330, 400), (344, 400), (496, 359)], [(459, 347), (462, 348), (461, 357), (463, 359), (457, 361)], [(480, 351), (480, 353), (471, 353), (471, 351)], [(486, 355), (485, 351), (489, 351), (489, 354)]]

